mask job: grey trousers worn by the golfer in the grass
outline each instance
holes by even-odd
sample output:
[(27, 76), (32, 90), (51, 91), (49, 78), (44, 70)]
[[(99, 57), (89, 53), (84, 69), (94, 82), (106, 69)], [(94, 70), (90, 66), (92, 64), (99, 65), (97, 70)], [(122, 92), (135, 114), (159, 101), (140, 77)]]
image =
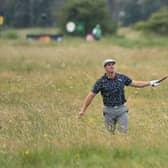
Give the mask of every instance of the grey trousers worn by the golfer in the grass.
[(128, 130), (128, 107), (121, 106), (104, 106), (104, 124), (106, 128), (114, 134), (116, 125), (118, 124), (118, 131), (120, 133), (127, 133)]

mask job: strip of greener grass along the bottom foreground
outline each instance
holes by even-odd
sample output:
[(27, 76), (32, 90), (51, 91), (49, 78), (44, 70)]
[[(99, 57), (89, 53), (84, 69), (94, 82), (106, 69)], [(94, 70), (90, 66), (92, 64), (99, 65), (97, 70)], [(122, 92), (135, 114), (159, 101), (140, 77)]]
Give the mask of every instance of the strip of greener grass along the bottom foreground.
[[(103, 146), (83, 146), (81, 148), (70, 148), (60, 150), (57, 148), (45, 148), (43, 150), (32, 150), (20, 152), (17, 155), (3, 155), (10, 162), (0, 163), (2, 167), (166, 167), (164, 162), (168, 159), (165, 149), (142, 149), (142, 148), (113, 148)], [(145, 158), (145, 159), (144, 159)], [(13, 164), (14, 163), (14, 164)]]

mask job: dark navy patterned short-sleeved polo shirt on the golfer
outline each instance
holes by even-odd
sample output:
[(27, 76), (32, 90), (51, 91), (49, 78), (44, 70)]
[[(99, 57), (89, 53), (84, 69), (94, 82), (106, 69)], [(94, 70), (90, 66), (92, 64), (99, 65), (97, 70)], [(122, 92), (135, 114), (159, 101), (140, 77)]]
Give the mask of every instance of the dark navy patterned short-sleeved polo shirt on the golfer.
[(92, 92), (97, 94), (101, 92), (105, 106), (119, 106), (126, 102), (124, 87), (132, 83), (132, 79), (120, 73), (115, 74), (115, 78), (102, 76), (96, 81)]

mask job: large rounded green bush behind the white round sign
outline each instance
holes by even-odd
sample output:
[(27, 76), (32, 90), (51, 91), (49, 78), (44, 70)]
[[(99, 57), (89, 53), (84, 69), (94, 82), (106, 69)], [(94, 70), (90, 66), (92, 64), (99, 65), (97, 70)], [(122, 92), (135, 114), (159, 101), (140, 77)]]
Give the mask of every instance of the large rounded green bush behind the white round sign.
[(114, 33), (117, 24), (111, 19), (107, 3), (104, 0), (69, 0), (61, 9), (60, 27), (65, 31), (65, 25), (69, 21), (82, 21), (85, 23), (86, 33), (92, 31), (96, 24), (100, 24), (104, 33)]

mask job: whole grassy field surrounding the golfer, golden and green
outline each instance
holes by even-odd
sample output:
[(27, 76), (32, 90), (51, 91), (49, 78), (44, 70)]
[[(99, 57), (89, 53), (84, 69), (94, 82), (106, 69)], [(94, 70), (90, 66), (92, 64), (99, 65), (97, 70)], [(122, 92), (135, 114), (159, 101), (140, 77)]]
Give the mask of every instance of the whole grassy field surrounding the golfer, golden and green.
[(105, 58), (135, 80), (167, 75), (166, 37), (126, 29), (99, 42), (64, 37), (46, 44), (26, 41), (28, 31), (16, 31), (16, 39), (1, 32), (1, 168), (167, 168), (168, 81), (126, 88), (127, 135), (105, 130), (100, 95), (77, 118)]

